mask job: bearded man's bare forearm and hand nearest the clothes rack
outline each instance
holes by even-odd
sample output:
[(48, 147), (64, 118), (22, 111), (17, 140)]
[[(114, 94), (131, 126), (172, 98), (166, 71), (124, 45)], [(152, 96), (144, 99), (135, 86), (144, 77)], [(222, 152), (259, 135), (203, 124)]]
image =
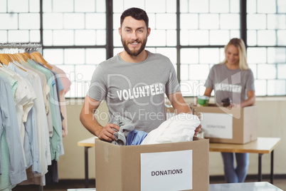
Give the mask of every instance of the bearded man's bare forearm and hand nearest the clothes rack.
[(96, 135), (98, 138), (107, 141), (115, 140), (115, 137), (113, 136), (115, 130), (113, 130), (112, 128), (115, 128), (117, 130), (120, 130), (120, 128), (112, 123), (107, 123), (105, 127), (102, 127), (102, 125), (98, 123), (97, 119), (93, 115), (99, 105), (100, 101), (94, 100), (89, 96), (85, 96), (85, 102), (83, 103), (83, 108), (80, 112), (80, 122), (83, 123), (83, 126), (85, 126), (85, 128), (90, 133)]

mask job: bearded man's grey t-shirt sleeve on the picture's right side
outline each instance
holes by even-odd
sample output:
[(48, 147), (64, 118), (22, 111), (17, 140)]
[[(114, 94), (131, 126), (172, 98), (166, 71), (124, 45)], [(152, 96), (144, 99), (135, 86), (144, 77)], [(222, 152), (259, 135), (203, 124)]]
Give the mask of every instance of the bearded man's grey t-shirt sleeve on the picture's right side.
[(169, 72), (168, 81), (166, 83), (166, 94), (167, 95), (171, 93), (176, 93), (177, 91), (180, 90), (178, 78), (176, 78), (176, 71), (170, 60), (169, 60), (169, 64), (170, 64), (170, 72)]

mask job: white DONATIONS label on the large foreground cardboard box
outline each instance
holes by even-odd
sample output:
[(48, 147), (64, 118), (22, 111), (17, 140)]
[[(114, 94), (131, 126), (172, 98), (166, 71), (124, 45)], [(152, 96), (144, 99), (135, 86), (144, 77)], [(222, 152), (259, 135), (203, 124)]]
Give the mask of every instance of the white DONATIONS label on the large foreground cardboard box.
[(141, 191), (192, 190), (192, 151), (141, 153)]

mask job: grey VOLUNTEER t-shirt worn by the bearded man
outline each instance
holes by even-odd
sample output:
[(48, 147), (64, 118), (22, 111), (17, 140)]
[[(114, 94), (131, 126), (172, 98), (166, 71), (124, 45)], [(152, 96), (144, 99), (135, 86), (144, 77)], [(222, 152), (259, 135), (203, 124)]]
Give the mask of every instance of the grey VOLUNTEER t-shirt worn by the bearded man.
[[(180, 90), (176, 72), (166, 56), (147, 53), (140, 63), (127, 63), (118, 53), (93, 73), (88, 96), (106, 100), (108, 123), (120, 115), (132, 120), (136, 130), (149, 133), (166, 120), (164, 94)], [(102, 117), (104, 113), (97, 114)]]

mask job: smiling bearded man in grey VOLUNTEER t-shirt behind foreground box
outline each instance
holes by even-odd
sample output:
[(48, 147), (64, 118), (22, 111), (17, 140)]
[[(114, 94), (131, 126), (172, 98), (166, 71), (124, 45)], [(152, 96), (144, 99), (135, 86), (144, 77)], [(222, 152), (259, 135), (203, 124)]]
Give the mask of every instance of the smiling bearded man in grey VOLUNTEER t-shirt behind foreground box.
[[(117, 116), (129, 120), (136, 130), (149, 133), (166, 120), (165, 97), (176, 114), (191, 113), (181, 95), (174, 66), (166, 56), (145, 50), (150, 34), (149, 19), (142, 9), (122, 13), (119, 33), (124, 50), (100, 63), (92, 75), (80, 121), (101, 140), (115, 140)], [(103, 127), (94, 117), (103, 117), (98, 106), (106, 100), (109, 120)], [(196, 128), (195, 135), (201, 125)]]

